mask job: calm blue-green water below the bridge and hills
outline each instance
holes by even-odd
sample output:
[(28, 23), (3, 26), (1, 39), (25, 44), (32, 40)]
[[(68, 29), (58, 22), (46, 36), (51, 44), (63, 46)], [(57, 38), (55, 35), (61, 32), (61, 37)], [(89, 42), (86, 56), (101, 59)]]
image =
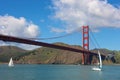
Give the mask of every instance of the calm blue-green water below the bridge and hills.
[(10, 68), (0, 64), (0, 80), (120, 80), (120, 66), (103, 66), (103, 71), (92, 71), (83, 65), (26, 65)]

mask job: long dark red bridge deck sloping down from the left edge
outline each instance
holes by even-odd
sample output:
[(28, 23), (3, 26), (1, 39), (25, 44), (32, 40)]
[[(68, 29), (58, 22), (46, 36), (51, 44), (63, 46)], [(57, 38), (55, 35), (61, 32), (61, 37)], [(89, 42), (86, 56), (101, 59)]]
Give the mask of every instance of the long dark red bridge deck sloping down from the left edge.
[[(60, 46), (60, 45), (55, 45), (55, 44), (49, 44), (49, 43), (34, 41), (34, 40), (26, 39), (26, 38), (8, 36), (8, 35), (0, 34), (0, 40), (5, 41), (5, 42), (17, 42), (17, 43), (24, 43), (24, 44), (30, 44), (30, 45), (37, 45), (37, 46), (44, 46), (44, 47), (68, 50), (68, 51), (73, 51), (73, 52), (78, 52), (78, 53), (86, 53), (86, 54), (89, 53), (90, 55), (98, 55), (97, 53), (94, 53), (91, 51), (80, 50), (80, 49), (76, 49), (76, 48), (70, 48), (70, 47), (65, 47), (65, 46)], [(102, 55), (102, 56), (105, 56), (105, 55)]]

